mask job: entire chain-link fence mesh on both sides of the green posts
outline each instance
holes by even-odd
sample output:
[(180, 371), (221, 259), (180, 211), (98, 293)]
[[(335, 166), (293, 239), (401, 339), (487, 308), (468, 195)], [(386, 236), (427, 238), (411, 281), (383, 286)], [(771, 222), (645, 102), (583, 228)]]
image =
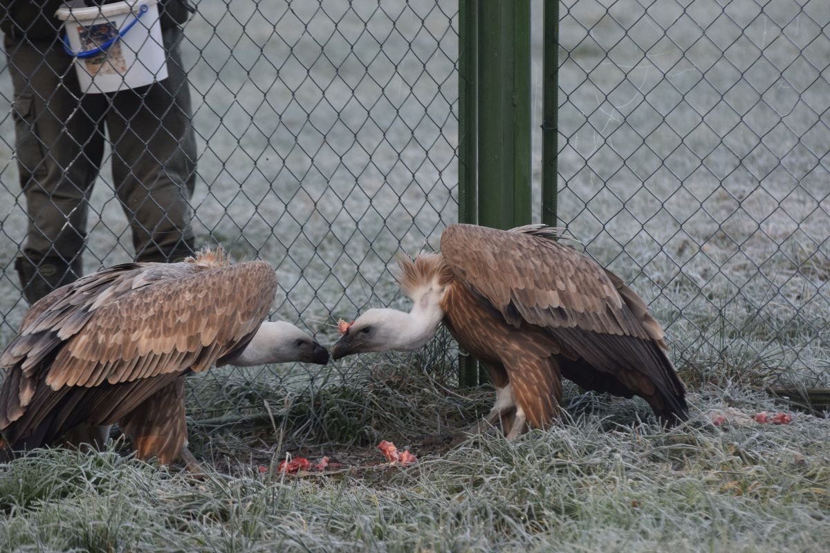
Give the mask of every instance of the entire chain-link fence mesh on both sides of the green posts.
[[(437, 247), (457, 219), (457, 2), (196, 7), (180, 46), (195, 244), (274, 264), (274, 317), (323, 343), (337, 318), (405, 305), (393, 254)], [(651, 303), (681, 367), (828, 381), (828, 23), (820, 0), (560, 4), (559, 219)], [(535, 29), (535, 52), (540, 40)], [(0, 95), (15, 106), (11, 73), (0, 69)], [(20, 114), (6, 113), (2, 343), (26, 308), (13, 267), (27, 228)], [(86, 272), (134, 255), (115, 142), (90, 194)], [(427, 357), (451, 363), (449, 345)], [(347, 372), (207, 371), (190, 405), (198, 418), (261, 410)]]

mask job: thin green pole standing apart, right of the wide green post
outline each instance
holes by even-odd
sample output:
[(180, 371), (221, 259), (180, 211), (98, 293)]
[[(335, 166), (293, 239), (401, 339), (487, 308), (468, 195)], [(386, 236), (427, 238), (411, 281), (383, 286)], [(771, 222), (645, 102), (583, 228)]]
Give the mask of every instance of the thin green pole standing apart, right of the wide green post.
[(559, 0), (544, 1), (542, 61), (542, 222), (557, 226), (559, 155)]

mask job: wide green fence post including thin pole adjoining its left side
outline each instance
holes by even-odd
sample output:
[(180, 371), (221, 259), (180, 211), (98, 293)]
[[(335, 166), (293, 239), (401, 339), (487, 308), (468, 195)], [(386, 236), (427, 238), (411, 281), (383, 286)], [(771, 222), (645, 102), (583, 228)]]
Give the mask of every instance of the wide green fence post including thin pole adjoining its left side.
[[(459, 221), (530, 223), (530, 2), (459, 2)], [(459, 359), (461, 386), (485, 374)]]

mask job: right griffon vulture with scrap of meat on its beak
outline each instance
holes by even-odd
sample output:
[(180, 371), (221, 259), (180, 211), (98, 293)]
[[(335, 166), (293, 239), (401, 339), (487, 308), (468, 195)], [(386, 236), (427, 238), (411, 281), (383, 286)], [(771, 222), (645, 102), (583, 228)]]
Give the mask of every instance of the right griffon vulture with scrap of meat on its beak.
[(485, 420), (502, 420), (508, 439), (525, 422), (544, 428), (554, 419), (562, 376), (587, 390), (639, 395), (668, 424), (686, 420), (683, 385), (646, 304), (555, 238), (541, 225), (447, 227), (440, 254), (398, 259), (412, 311), (369, 309), (344, 325), (332, 356), (416, 349), (443, 322), (489, 369), (496, 405)]

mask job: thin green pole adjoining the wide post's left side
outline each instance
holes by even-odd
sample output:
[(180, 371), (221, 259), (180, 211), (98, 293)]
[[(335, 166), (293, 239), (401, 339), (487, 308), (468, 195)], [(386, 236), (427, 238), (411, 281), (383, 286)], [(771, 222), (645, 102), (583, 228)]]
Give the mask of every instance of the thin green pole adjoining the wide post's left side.
[[(478, 0), (458, 2), (458, 222), (478, 222), (476, 69), (478, 59)], [(475, 357), (458, 356), (459, 386), (478, 384)]]

